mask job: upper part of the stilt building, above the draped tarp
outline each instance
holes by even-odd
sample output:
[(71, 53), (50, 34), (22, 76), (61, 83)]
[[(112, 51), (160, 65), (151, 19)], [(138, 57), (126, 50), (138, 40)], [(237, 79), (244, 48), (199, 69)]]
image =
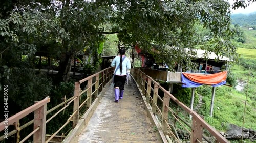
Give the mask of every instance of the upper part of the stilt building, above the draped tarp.
[[(138, 50), (136, 50), (138, 51)], [(215, 55), (215, 53), (210, 53), (208, 55), (207, 61), (204, 59), (203, 54), (204, 50), (195, 49), (197, 52), (195, 60), (192, 62), (197, 63), (198, 67), (196, 69), (185, 70), (181, 66), (177, 66), (175, 72), (167, 71), (166, 67), (159, 66), (153, 56), (147, 53), (138, 53), (142, 59), (142, 65), (140, 70), (146, 73), (148, 76), (156, 80), (166, 81), (170, 83), (181, 83), (182, 73), (195, 73), (195, 74), (214, 74), (219, 73), (223, 70), (226, 70), (228, 58), (225, 56), (220, 57)], [(219, 58), (219, 62), (216, 62), (215, 59)]]

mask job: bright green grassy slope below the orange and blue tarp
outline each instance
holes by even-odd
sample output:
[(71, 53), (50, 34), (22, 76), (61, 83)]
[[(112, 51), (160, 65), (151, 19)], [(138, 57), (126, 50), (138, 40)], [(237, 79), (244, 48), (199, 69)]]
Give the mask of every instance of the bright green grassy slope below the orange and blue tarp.
[[(202, 86), (198, 90), (206, 90), (211, 92), (211, 87)], [(242, 126), (243, 112), (245, 103), (244, 92), (233, 90), (231, 87), (217, 87), (214, 101), (214, 116), (209, 117), (211, 95), (204, 92), (203, 102), (205, 103), (199, 110), (200, 114), (205, 116), (205, 120), (214, 126), (217, 130), (225, 131), (226, 124), (236, 124)], [(247, 98), (245, 111), (245, 128), (256, 130), (256, 102)]]

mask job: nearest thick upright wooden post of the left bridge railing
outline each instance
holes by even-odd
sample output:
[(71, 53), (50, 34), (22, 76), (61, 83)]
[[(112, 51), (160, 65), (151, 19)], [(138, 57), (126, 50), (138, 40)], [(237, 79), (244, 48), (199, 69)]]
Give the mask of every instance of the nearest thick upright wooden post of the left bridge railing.
[[(37, 103), (39, 101), (35, 101)], [(41, 106), (34, 111), (34, 130), (40, 127), (33, 135), (34, 143), (45, 143), (46, 142), (46, 112), (47, 104)]]

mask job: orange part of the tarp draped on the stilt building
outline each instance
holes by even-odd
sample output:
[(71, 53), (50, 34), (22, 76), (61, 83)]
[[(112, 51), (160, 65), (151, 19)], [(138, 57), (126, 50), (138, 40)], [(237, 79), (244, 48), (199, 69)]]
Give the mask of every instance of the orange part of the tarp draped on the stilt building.
[(218, 84), (226, 80), (227, 71), (215, 73), (215, 74), (193, 74), (193, 73), (182, 73), (187, 79), (201, 83), (201, 84)]

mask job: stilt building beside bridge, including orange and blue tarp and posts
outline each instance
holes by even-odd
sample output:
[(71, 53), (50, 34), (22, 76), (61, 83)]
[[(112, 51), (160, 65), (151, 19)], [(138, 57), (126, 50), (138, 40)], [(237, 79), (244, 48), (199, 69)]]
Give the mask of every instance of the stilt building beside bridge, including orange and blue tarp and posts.
[[(166, 67), (162, 67), (156, 64), (152, 55), (143, 52), (138, 47), (135, 47), (135, 49), (142, 59), (142, 65), (140, 67), (140, 70), (148, 76), (152, 77), (153, 79), (169, 82), (170, 93), (173, 92), (174, 83), (182, 84), (183, 88), (192, 88), (190, 104), (190, 109), (192, 110), (194, 104), (195, 88), (203, 84), (212, 86), (210, 106), (210, 117), (212, 117), (214, 109), (215, 89), (218, 86), (226, 85), (226, 67), (228, 61), (230, 61), (228, 58), (226, 58), (225, 56), (217, 56), (215, 53), (211, 52), (208, 54), (207, 60), (205, 60), (205, 51), (201, 49), (195, 49), (197, 55), (194, 56), (193, 59), (195, 60), (192, 62), (198, 64), (198, 67), (196, 69), (184, 70), (182, 69), (182, 66), (177, 66), (175, 72), (170, 72), (166, 70)], [(219, 62), (216, 62), (215, 59), (219, 59)]]

